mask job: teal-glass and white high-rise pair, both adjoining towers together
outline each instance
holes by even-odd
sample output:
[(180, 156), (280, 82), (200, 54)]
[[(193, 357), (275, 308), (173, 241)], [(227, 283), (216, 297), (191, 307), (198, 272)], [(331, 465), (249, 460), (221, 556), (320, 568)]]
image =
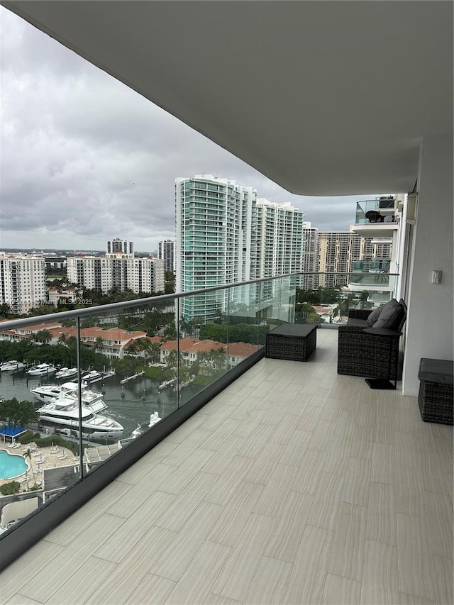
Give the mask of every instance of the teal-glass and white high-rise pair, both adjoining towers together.
[[(303, 213), (291, 204), (257, 199), (252, 187), (209, 174), (176, 179), (175, 206), (177, 292), (301, 271)], [(273, 295), (264, 289), (262, 297)], [(255, 292), (243, 287), (230, 301), (226, 291), (194, 295), (181, 301), (180, 314), (215, 317)]]

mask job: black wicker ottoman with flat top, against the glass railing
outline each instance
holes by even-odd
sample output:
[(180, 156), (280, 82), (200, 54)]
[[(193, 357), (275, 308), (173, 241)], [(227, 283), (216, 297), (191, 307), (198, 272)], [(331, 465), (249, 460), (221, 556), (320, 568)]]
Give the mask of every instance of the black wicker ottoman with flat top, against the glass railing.
[(312, 323), (282, 323), (267, 333), (265, 357), (306, 361), (316, 348), (317, 326)]

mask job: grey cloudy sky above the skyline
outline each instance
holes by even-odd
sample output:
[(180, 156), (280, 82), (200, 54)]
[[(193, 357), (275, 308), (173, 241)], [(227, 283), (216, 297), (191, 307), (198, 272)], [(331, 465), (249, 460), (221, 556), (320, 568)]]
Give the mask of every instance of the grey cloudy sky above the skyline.
[(320, 231), (354, 222), (365, 196), (289, 194), (3, 7), (0, 36), (0, 250), (118, 237), (152, 252), (175, 238), (175, 177), (202, 173), (289, 201)]

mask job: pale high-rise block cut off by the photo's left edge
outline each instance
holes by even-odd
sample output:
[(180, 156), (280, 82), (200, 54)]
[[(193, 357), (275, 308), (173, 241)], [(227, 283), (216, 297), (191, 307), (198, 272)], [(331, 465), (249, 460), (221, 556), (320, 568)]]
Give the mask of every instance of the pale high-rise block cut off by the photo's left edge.
[(46, 299), (44, 258), (0, 252), (0, 304), (27, 313)]

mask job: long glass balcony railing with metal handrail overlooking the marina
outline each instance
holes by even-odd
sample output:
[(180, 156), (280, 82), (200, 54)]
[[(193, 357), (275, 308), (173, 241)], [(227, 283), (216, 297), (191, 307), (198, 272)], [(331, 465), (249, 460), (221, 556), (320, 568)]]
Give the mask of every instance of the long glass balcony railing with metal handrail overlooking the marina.
[[(309, 277), (367, 286), (372, 264), (368, 272), (356, 268)], [(110, 460), (143, 455), (140, 443), (153, 447), (155, 433), (170, 433), (192, 406), (259, 360), (267, 332), (279, 323), (336, 327), (349, 308), (377, 305), (376, 289), (367, 287), (299, 290), (307, 277), (3, 322), (0, 540), (68, 487), (92, 476), (94, 483), (107, 480), (107, 471), (96, 473)]]

